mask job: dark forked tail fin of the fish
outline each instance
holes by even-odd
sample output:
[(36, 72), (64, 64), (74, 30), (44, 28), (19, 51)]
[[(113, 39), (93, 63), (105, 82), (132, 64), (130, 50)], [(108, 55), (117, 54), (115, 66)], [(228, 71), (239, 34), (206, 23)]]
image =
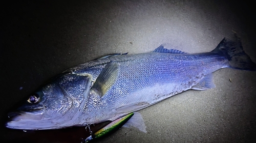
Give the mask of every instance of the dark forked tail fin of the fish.
[(249, 55), (244, 52), (238, 37), (236, 37), (236, 41), (224, 38), (211, 52), (226, 56), (230, 68), (256, 71), (256, 64), (253, 63)]

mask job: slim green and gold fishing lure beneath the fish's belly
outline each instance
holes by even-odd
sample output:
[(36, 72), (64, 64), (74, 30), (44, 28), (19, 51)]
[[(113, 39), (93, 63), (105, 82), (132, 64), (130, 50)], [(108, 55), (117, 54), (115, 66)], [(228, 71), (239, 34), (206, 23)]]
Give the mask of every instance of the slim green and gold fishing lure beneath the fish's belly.
[(93, 133), (92, 135), (90, 135), (89, 137), (87, 137), (86, 139), (84, 139), (83, 142), (89, 142), (90, 140), (94, 139), (94, 138), (100, 138), (106, 134), (109, 134), (110, 132), (113, 132), (117, 129), (119, 129), (120, 127), (122, 127), (128, 120), (130, 120), (132, 118), (132, 116), (134, 115), (134, 112), (129, 113), (128, 115), (119, 118), (113, 122), (111, 122), (110, 124), (106, 125), (105, 127), (103, 127), (102, 129), (98, 130), (97, 132)]

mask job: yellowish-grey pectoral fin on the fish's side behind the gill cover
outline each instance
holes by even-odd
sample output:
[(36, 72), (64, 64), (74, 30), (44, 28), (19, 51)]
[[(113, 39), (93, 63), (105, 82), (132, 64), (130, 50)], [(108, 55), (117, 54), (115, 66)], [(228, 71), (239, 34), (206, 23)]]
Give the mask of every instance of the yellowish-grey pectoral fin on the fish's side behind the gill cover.
[(118, 72), (119, 65), (116, 63), (106, 64), (105, 68), (101, 71), (91, 89), (98, 92), (99, 96), (102, 97), (115, 83), (118, 77)]

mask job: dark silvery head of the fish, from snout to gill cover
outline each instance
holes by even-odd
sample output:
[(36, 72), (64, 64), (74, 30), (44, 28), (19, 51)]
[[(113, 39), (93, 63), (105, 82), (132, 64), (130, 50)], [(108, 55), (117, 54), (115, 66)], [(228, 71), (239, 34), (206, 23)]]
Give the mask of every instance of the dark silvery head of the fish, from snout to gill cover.
[(32, 93), (16, 111), (8, 113), (7, 128), (60, 129), (72, 126), (86, 102), (91, 76), (66, 74)]

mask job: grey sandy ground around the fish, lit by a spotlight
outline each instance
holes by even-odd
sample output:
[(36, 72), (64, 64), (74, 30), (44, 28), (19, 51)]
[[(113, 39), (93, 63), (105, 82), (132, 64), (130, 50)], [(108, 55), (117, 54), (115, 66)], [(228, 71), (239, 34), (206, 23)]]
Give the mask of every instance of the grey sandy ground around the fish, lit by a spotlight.
[[(79, 142), (84, 128), (11, 130), (7, 112), (40, 84), (110, 53), (162, 43), (207, 52), (234, 32), (256, 62), (255, 9), (234, 1), (20, 1), (1, 8), (1, 140)], [(231, 79), (231, 82), (229, 81)], [(142, 109), (147, 133), (121, 128), (96, 142), (256, 142), (256, 72), (221, 69), (215, 89), (186, 91)]]

